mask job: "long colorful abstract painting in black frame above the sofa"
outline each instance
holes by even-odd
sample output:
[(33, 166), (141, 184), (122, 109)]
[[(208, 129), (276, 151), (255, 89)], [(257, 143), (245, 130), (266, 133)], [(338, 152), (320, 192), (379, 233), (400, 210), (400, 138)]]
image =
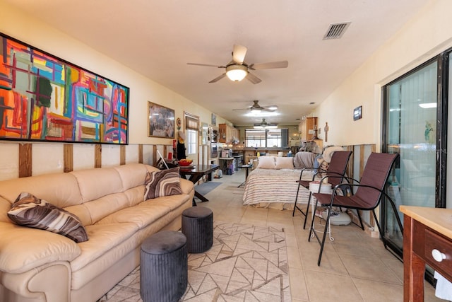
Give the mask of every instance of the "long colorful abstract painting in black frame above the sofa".
[(129, 88), (0, 34), (0, 139), (128, 144)]

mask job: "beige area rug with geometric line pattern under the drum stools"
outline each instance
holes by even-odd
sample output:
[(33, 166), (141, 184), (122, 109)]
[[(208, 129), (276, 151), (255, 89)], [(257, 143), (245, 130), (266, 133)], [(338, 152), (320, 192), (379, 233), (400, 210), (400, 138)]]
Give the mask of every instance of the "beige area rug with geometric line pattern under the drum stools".
[[(213, 247), (189, 254), (181, 301), (291, 301), (285, 233), (281, 228), (214, 222)], [(139, 269), (100, 301), (141, 301)]]

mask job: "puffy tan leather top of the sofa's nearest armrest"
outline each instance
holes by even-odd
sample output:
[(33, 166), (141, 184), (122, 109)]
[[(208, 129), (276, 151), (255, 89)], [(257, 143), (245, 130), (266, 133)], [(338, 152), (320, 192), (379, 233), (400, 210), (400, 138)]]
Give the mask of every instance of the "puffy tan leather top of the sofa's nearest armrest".
[(0, 221), (0, 251), (0, 271), (13, 274), (71, 261), (81, 254), (77, 243), (65, 236), (4, 221)]

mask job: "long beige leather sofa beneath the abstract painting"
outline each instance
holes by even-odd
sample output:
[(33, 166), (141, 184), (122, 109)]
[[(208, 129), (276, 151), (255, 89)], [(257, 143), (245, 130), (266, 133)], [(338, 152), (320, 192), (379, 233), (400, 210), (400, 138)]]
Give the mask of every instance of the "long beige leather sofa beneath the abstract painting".
[[(161, 230), (179, 230), (194, 186), (143, 201), (150, 165), (78, 170), (0, 182), (0, 301), (97, 301), (139, 265), (140, 245)], [(76, 214), (88, 241), (18, 226), (6, 213), (29, 192)]]

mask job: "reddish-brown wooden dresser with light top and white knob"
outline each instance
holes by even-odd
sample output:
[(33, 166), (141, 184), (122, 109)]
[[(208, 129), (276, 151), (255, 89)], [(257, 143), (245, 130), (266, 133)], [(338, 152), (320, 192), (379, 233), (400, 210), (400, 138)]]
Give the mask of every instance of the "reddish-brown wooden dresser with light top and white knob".
[(424, 301), (425, 265), (452, 281), (452, 209), (400, 206), (403, 301)]

